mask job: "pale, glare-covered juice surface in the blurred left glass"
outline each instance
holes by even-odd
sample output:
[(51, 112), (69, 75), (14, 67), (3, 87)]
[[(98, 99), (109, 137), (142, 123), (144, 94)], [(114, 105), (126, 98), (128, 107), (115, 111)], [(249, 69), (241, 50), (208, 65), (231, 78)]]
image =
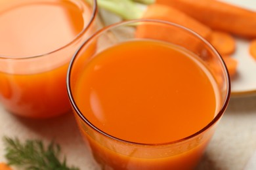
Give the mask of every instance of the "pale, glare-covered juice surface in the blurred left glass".
[(0, 54), (19, 57), (57, 50), (87, 24), (79, 7), (69, 1), (17, 5), (0, 12), (0, 23)]

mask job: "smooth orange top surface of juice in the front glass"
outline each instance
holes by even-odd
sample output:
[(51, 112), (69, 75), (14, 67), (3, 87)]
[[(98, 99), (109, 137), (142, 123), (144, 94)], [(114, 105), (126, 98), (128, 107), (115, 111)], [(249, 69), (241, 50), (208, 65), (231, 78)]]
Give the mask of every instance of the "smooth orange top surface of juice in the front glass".
[(209, 71), (186, 50), (157, 41), (117, 44), (91, 59), (74, 97), (98, 129), (134, 143), (168, 143), (205, 127), (217, 111)]

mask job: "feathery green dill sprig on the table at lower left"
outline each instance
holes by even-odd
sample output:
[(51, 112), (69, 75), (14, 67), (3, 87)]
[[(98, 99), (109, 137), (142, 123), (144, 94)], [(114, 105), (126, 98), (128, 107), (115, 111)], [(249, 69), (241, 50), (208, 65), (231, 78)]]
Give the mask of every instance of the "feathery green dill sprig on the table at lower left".
[(58, 159), (60, 145), (51, 142), (47, 148), (42, 141), (27, 140), (21, 143), (17, 138), (4, 137), (5, 158), (9, 165), (23, 167), (26, 170), (79, 170), (77, 167), (68, 167), (66, 158)]

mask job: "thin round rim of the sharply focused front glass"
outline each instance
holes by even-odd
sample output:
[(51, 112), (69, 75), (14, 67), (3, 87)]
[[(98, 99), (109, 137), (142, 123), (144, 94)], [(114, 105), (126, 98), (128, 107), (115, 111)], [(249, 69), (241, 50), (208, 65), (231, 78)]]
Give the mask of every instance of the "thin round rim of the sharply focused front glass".
[[(77, 55), (79, 54), (79, 52), (83, 49), (83, 47), (85, 47), (87, 44), (89, 44), (91, 41), (93, 41), (93, 39), (95, 39), (96, 37), (99, 37), (100, 35), (102, 35), (102, 33), (105, 33), (106, 31), (109, 31), (109, 30), (114, 29), (114, 28), (119, 27), (119, 26), (128, 25), (128, 24), (137, 24), (137, 23), (140, 23), (140, 22), (151, 23), (151, 24), (172, 25), (174, 27), (181, 28), (184, 31), (188, 31), (188, 33), (192, 33), (194, 36), (196, 36), (198, 39), (200, 39), (203, 43), (205, 43), (211, 49), (212, 52), (214, 52), (215, 56), (217, 56), (217, 58), (219, 58), (219, 60), (221, 61), (222, 65), (223, 65), (224, 75), (225, 75), (225, 78), (227, 80), (226, 81), (227, 90), (226, 90), (226, 94), (225, 94), (223, 104), (221, 105), (220, 110), (217, 112), (217, 114), (211, 120), (211, 122), (209, 122), (209, 124), (204, 126), (199, 131), (196, 131), (192, 135), (188, 135), (187, 137), (184, 137), (182, 139), (178, 139), (178, 140), (175, 140), (175, 141), (170, 141), (170, 142), (165, 142), (165, 143), (155, 143), (155, 144), (154, 143), (137, 143), (137, 142), (133, 142), (133, 141), (127, 141), (127, 140), (124, 140), (124, 139), (120, 139), (118, 137), (114, 137), (113, 135), (110, 135), (110, 134), (106, 133), (105, 131), (99, 129), (95, 125), (93, 125), (82, 114), (82, 112), (79, 110), (79, 107), (75, 103), (75, 99), (73, 97), (72, 90), (71, 90), (70, 78), (71, 78), (71, 72), (72, 72), (72, 67), (73, 67), (74, 61), (77, 58)], [(110, 139), (114, 139), (114, 140), (119, 141), (121, 143), (140, 145), (140, 146), (165, 146), (165, 145), (169, 145), (169, 144), (182, 143), (184, 141), (188, 141), (189, 139), (192, 139), (192, 138), (202, 134), (204, 131), (207, 131), (207, 129), (214, 126), (218, 122), (218, 120), (220, 120), (221, 117), (223, 116), (224, 111), (226, 110), (226, 107), (228, 106), (228, 101), (230, 100), (230, 91), (231, 91), (230, 76), (228, 74), (228, 69), (226, 67), (226, 64), (224, 63), (223, 58), (221, 58), (221, 55), (219, 54), (219, 52), (217, 52), (217, 50), (208, 41), (203, 39), (203, 37), (201, 37), (198, 33), (194, 32), (191, 29), (188, 29), (188, 28), (186, 28), (182, 25), (175, 24), (175, 23), (172, 23), (172, 22), (166, 22), (166, 21), (163, 21), (163, 20), (152, 20), (152, 19), (139, 19), (139, 20), (129, 20), (129, 21), (117, 22), (116, 24), (108, 25), (107, 27), (104, 27), (104, 28), (96, 31), (93, 35), (91, 35), (91, 37), (89, 39), (87, 39), (87, 41), (83, 42), (83, 44), (77, 49), (74, 56), (72, 57), (72, 59), (70, 61), (70, 65), (68, 67), (68, 73), (67, 73), (67, 77), (66, 77), (66, 86), (67, 86), (68, 98), (70, 99), (70, 103), (72, 104), (72, 107), (75, 111), (75, 115), (79, 116), (79, 118), (83, 121), (83, 123), (87, 124), (89, 127), (91, 127), (96, 132), (100, 133), (100, 135), (104, 135), (105, 137), (108, 137)]]

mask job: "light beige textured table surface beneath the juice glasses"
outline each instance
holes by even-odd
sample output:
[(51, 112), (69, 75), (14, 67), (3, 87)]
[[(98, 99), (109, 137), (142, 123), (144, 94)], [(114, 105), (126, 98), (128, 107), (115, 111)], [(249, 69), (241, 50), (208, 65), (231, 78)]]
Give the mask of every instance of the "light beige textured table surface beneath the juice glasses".
[[(81, 170), (98, 169), (86, 148), (72, 113), (49, 120), (18, 118), (0, 107), (0, 137), (53, 139), (62, 146), (70, 165)], [(255, 170), (256, 163), (256, 97), (232, 98), (228, 109), (207, 147), (198, 167), (200, 170)], [(0, 162), (5, 161), (0, 141)], [(248, 162), (251, 162), (247, 164)]]

